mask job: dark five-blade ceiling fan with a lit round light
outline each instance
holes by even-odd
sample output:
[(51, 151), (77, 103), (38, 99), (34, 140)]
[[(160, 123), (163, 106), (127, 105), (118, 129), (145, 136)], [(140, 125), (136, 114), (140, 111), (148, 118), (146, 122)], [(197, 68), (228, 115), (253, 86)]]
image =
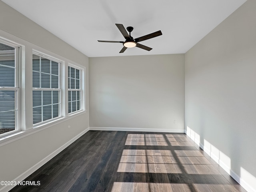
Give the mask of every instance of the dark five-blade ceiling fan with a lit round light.
[(120, 50), (119, 53), (123, 53), (127, 48), (132, 48), (132, 47), (135, 47), (135, 46), (138, 47), (138, 48), (142, 48), (144, 50), (150, 51), (150, 50), (152, 50), (152, 48), (147, 47), (147, 46), (142, 45), (142, 44), (139, 44), (138, 42), (141, 42), (141, 41), (144, 41), (144, 40), (151, 39), (151, 38), (162, 35), (161, 31), (156, 31), (154, 33), (150, 33), (150, 34), (147, 34), (147, 35), (144, 35), (144, 36), (141, 36), (141, 37), (138, 37), (138, 38), (134, 39), (131, 36), (131, 32), (133, 30), (133, 27), (129, 26), (129, 27), (126, 28), (127, 31), (129, 32), (129, 34), (128, 34), (122, 24), (116, 24), (116, 26), (120, 30), (122, 35), (124, 36), (125, 41), (101, 41), (101, 40), (98, 40), (98, 42), (122, 43), (124, 45), (124, 47)]

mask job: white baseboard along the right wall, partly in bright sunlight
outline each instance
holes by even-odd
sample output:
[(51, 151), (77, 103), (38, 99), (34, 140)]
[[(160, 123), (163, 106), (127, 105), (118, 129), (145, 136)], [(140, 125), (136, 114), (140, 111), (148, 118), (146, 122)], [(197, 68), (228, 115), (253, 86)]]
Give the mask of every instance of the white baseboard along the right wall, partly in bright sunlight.
[[(187, 134), (187, 132), (185, 132)], [(188, 134), (187, 134), (188, 135)], [(194, 142), (195, 138), (188, 135)], [(196, 142), (198, 145), (198, 141)], [(244, 181), (238, 174), (236, 174), (233, 170), (229, 168), (228, 165), (226, 165), (222, 160), (220, 160), (216, 155), (212, 154), (210, 149), (206, 148), (202, 143), (199, 142), (198, 145), (204, 152), (206, 152), (215, 162), (217, 162), (236, 182), (238, 182), (245, 190), (248, 192), (256, 192), (256, 189), (252, 188), (250, 184), (248, 184), (246, 181)]]

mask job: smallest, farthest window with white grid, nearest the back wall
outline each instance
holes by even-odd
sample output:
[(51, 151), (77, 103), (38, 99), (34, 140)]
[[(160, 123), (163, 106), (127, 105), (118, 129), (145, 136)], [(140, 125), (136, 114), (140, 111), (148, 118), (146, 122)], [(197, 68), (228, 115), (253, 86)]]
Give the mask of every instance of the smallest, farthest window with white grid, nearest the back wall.
[(81, 110), (81, 71), (68, 66), (68, 113)]

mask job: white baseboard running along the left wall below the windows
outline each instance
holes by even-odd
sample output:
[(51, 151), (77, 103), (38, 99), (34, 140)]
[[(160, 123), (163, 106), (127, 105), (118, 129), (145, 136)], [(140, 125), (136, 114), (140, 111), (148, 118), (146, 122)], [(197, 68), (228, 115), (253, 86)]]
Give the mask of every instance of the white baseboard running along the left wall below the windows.
[[(62, 150), (64, 150), (66, 147), (68, 147), (70, 144), (72, 144), (74, 141), (76, 141), (78, 138), (80, 138), (82, 135), (84, 135), (86, 132), (89, 131), (89, 128), (86, 128), (83, 132), (66, 142), (64, 145), (62, 145), (60, 148), (56, 149), (54, 152), (46, 156), (44, 159), (42, 159), (40, 162), (26, 170), (24, 173), (20, 174), (20, 176), (16, 177), (13, 181), (23, 181), (28, 176), (30, 176), (32, 173), (34, 173), (36, 170), (38, 170), (40, 167), (42, 167), (44, 164), (46, 164), (49, 160), (54, 158), (57, 154), (59, 154)], [(14, 186), (3, 186), (0, 188), (0, 192), (8, 192), (14, 188)]]

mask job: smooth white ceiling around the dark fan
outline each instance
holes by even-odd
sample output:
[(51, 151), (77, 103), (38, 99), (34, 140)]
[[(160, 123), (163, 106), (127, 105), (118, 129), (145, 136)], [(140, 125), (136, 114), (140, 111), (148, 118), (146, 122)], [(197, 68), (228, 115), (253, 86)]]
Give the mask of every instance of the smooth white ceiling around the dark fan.
[[(2, 0), (88, 57), (185, 53), (246, 0)], [(162, 31), (128, 48), (116, 23), (134, 38)]]

